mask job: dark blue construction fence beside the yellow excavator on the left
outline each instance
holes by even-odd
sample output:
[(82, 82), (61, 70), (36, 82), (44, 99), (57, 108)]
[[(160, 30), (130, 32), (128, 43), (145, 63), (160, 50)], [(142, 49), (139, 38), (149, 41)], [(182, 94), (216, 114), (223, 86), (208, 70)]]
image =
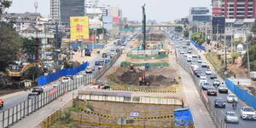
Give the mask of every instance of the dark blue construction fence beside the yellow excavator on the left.
[(38, 78), (38, 86), (49, 84), (66, 75), (74, 75), (76, 73), (79, 73), (80, 71), (84, 70), (87, 66), (88, 66), (88, 62), (86, 61), (84, 62), (84, 64), (80, 65), (79, 67), (65, 68), (65, 69), (61, 69), (58, 72), (50, 73), (47, 76), (41, 76)]

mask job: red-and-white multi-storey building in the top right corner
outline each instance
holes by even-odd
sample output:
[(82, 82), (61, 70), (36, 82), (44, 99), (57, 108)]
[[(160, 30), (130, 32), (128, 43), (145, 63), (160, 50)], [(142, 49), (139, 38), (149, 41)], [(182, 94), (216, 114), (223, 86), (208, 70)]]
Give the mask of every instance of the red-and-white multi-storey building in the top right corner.
[(226, 19), (254, 19), (256, 0), (212, 0), (212, 15)]

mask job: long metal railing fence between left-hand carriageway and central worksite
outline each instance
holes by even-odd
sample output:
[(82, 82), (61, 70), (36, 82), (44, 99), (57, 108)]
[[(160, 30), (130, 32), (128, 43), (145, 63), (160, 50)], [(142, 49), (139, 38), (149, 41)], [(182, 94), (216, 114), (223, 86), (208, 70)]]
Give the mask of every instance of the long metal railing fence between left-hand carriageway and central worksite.
[(109, 67), (118, 60), (121, 54), (122, 52), (120, 51), (118, 55), (113, 57), (110, 62), (102, 67), (102, 70), (99, 70), (96, 73), (55, 85), (51, 90), (27, 99), (25, 102), (20, 102), (20, 104), (15, 105), (13, 108), (0, 112), (0, 128), (9, 127), (9, 125), (13, 125), (18, 120), (25, 118), (39, 108), (43, 108), (45, 105), (49, 104), (49, 102), (53, 102), (57, 97), (62, 96), (69, 91), (76, 90), (79, 86), (83, 86), (84, 84), (90, 84), (93, 79), (101, 78), (102, 75), (108, 71)]

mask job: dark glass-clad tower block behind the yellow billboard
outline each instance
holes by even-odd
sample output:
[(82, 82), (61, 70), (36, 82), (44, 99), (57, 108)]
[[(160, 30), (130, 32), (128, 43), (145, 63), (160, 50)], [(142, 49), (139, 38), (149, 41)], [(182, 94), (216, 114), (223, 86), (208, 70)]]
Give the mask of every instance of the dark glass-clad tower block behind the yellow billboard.
[(70, 17), (84, 16), (84, 0), (61, 0), (60, 18), (62, 26), (69, 26)]

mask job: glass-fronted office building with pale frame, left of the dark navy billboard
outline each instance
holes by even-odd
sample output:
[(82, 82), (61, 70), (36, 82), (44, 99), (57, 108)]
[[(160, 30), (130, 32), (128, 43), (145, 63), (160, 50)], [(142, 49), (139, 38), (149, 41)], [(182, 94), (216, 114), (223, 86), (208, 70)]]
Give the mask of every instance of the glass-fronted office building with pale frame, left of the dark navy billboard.
[(212, 15), (210, 14), (210, 9), (205, 7), (195, 7), (189, 9), (189, 22), (208, 22), (211, 19)]

